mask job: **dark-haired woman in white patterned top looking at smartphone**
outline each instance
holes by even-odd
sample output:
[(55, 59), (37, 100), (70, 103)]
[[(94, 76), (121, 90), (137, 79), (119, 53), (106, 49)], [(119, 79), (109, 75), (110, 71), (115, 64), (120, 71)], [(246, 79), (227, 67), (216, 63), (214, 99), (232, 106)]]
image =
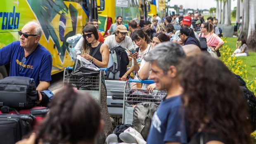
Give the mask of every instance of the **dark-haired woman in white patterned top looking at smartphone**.
[(140, 62), (142, 58), (148, 54), (149, 50), (151, 49), (150, 38), (147, 33), (143, 32), (142, 30), (138, 29), (133, 32), (132, 40), (138, 46), (137, 51), (130, 50), (131, 56), (133, 57), (133, 66), (122, 76), (121, 80), (126, 80), (127, 76), (135, 71), (136, 75), (134, 79), (139, 79), (138, 71), (140, 69)]

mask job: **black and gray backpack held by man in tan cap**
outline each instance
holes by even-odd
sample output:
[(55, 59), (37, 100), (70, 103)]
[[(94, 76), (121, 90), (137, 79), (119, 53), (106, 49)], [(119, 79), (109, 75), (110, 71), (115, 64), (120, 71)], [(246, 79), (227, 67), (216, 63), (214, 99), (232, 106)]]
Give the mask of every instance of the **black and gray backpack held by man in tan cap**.
[(109, 64), (107, 78), (110, 80), (119, 80), (127, 71), (129, 59), (126, 50), (119, 46), (111, 48), (109, 51)]

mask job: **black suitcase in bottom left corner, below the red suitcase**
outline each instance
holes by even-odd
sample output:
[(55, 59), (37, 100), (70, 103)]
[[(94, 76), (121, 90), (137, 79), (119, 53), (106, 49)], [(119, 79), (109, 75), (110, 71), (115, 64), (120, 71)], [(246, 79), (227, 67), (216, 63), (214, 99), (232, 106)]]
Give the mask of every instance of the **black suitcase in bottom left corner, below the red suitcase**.
[(15, 144), (32, 130), (31, 114), (0, 114), (0, 144)]

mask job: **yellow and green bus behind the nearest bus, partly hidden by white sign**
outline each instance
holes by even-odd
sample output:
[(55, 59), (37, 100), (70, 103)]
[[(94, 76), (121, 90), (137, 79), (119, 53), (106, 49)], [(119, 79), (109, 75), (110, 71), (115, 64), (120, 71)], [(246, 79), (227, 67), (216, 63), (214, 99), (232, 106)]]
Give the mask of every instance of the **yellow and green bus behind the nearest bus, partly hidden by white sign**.
[(99, 30), (107, 34), (111, 24), (115, 23), (116, 17), (123, 17), (123, 24), (138, 18), (144, 14), (142, 5), (144, 0), (128, 0), (129, 7), (115, 7), (115, 0), (97, 0)]

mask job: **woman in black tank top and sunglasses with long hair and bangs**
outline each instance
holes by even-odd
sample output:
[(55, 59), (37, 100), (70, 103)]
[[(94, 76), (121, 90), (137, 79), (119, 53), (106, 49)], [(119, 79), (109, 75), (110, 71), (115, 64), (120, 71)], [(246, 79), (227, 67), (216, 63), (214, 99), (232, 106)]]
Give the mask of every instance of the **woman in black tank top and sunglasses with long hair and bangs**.
[(83, 28), (83, 48), (81, 56), (99, 68), (106, 68), (109, 62), (109, 49), (107, 45), (99, 42), (99, 35), (95, 26), (88, 25)]

